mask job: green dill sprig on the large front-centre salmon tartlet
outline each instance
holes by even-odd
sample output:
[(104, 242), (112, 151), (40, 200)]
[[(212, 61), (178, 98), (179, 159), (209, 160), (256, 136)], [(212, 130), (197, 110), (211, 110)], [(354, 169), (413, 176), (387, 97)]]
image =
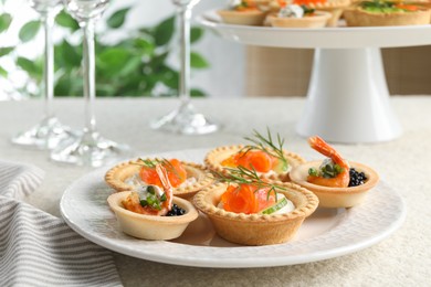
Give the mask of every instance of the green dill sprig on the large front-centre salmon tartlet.
[(254, 168), (246, 169), (240, 166), (238, 168), (224, 168), (224, 170), (227, 171), (225, 173), (217, 172), (217, 171), (212, 171), (212, 173), (216, 176), (216, 179), (219, 180), (220, 182), (251, 184), (257, 187), (257, 190), (263, 188), (270, 188), (270, 190), (266, 193), (266, 199), (270, 198), (271, 193), (274, 193), (275, 201), (276, 201), (277, 190), (285, 190), (285, 188), (282, 185), (262, 180)]

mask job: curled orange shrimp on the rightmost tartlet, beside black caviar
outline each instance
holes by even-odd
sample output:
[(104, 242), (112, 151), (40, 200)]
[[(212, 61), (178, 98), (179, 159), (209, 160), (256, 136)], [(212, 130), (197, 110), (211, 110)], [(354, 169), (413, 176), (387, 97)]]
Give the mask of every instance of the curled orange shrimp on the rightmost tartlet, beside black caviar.
[(328, 157), (335, 164), (341, 168), (341, 171), (335, 178), (324, 178), (319, 176), (308, 176), (307, 181), (314, 184), (330, 188), (347, 188), (350, 181), (350, 166), (343, 157), (320, 137), (308, 138), (308, 145), (316, 151)]

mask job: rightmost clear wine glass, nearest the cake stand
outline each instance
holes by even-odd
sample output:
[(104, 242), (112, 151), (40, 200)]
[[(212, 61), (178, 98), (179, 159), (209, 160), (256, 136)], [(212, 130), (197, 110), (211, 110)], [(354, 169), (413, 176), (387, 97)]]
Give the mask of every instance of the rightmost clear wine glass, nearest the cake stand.
[(186, 135), (203, 135), (218, 130), (218, 125), (195, 110), (190, 103), (190, 19), (191, 10), (200, 0), (171, 0), (180, 21), (180, 106), (154, 120), (150, 127)]

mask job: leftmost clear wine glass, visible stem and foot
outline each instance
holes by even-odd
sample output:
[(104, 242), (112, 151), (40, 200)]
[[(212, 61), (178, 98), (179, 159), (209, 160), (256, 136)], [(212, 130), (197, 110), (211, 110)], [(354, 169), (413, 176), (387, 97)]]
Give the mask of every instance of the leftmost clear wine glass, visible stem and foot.
[(60, 141), (75, 137), (69, 127), (62, 125), (54, 116), (52, 100), (54, 97), (54, 46), (52, 28), (55, 15), (62, 9), (61, 0), (29, 0), (30, 6), (39, 12), (44, 28), (44, 70), (42, 94), (44, 97), (44, 117), (30, 128), (14, 136), (11, 140), (15, 145), (53, 149)]

